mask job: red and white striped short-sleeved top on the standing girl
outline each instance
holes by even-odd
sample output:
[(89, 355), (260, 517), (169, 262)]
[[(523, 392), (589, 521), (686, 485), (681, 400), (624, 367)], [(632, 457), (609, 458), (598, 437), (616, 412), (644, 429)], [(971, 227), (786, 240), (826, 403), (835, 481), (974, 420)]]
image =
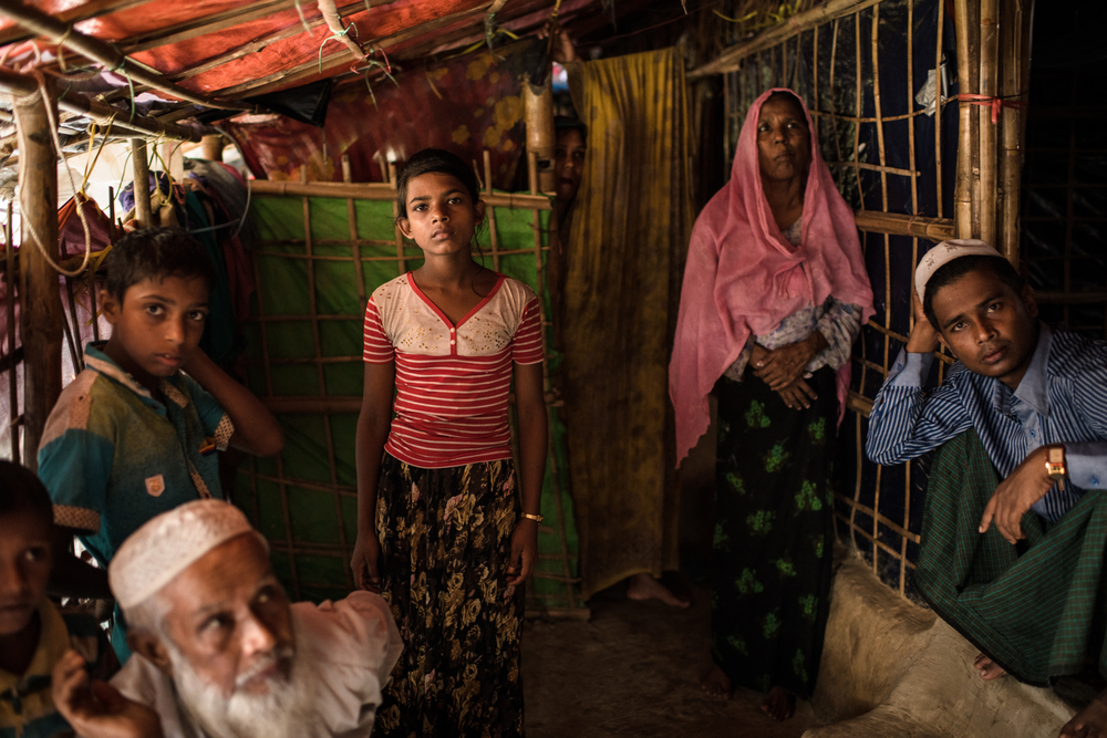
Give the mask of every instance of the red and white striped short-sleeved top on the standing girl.
[(424, 469), (511, 458), (513, 362), (542, 361), (541, 330), (538, 298), (503, 274), (457, 325), (411, 272), (374, 290), (364, 360), (396, 364), (396, 416), (384, 450)]

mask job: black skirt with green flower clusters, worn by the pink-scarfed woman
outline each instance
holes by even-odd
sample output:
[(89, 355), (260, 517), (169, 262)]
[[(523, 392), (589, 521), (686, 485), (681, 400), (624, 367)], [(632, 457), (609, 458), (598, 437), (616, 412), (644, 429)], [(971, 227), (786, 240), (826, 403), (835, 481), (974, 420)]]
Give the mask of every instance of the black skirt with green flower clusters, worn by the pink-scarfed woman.
[(829, 613), (838, 422), (835, 372), (807, 383), (818, 399), (795, 410), (748, 372), (720, 381), (711, 601), (712, 658), (731, 683), (800, 698)]

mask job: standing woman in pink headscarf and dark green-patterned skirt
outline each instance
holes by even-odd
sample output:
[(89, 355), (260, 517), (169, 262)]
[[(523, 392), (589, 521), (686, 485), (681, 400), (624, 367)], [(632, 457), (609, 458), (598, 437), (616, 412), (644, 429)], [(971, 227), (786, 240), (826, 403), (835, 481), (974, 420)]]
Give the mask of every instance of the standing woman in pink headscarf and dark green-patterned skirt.
[(835, 540), (830, 464), (849, 356), (872, 314), (853, 214), (789, 90), (746, 114), (731, 180), (696, 220), (669, 391), (677, 462), (718, 397), (712, 659), (704, 688), (815, 686)]

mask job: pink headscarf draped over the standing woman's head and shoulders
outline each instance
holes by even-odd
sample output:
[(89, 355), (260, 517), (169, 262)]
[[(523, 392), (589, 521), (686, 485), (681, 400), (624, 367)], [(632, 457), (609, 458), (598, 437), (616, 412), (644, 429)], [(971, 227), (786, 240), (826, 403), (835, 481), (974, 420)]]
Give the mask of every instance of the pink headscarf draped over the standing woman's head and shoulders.
[[(819, 155), (806, 106), (811, 166), (798, 248), (785, 240), (773, 219), (762, 189), (757, 121), (762, 104), (774, 92), (795, 94), (778, 87), (754, 101), (738, 136), (731, 180), (711, 198), (692, 230), (669, 363), (677, 466), (707, 429), (707, 394), (742, 353), (751, 333), (772, 333), (792, 313), (808, 304), (820, 305), (830, 294), (860, 305), (862, 325), (873, 312), (853, 211)], [(838, 371), (839, 423), (849, 381), (847, 362)]]

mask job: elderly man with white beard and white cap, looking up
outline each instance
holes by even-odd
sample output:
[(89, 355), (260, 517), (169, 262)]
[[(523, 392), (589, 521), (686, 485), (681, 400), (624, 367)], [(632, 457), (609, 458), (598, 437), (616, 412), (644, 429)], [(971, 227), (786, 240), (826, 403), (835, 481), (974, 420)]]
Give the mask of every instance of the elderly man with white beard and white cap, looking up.
[(70, 652), (54, 704), (84, 738), (364, 738), (403, 649), (384, 600), (290, 605), (268, 545), (219, 500), (157, 516), (108, 568), (134, 656), (90, 683)]

